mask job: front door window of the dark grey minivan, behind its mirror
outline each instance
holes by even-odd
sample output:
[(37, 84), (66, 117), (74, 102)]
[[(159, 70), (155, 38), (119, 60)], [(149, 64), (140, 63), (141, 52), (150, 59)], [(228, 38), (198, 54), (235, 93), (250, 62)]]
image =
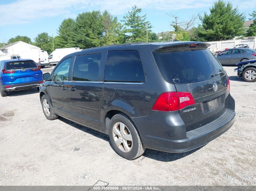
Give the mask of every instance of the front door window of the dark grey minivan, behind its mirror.
[(53, 81), (68, 81), (68, 71), (71, 58), (63, 60), (53, 73)]

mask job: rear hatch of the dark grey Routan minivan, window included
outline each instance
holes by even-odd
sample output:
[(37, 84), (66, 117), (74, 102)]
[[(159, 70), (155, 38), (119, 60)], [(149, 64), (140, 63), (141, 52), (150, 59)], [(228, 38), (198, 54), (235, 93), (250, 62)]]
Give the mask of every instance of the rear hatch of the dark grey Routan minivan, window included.
[(194, 98), (195, 104), (179, 111), (187, 131), (217, 119), (228, 103), (228, 76), (207, 46), (183, 44), (152, 52), (163, 78)]

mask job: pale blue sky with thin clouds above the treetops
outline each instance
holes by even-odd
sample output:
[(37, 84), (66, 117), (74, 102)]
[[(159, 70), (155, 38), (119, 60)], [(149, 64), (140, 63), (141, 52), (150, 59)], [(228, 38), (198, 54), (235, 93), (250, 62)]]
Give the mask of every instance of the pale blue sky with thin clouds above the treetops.
[[(233, 7), (248, 14), (256, 10), (252, 0), (230, 0)], [(47, 32), (56, 36), (58, 26), (66, 18), (75, 19), (79, 13), (93, 10), (108, 10), (119, 20), (133, 5), (141, 8), (141, 15), (147, 14), (155, 33), (171, 30), (172, 18), (189, 20), (192, 14), (209, 12), (214, 0), (0, 0), (0, 43), (17, 35), (28, 36), (34, 41), (37, 34)], [(198, 20), (196, 25), (200, 23)]]

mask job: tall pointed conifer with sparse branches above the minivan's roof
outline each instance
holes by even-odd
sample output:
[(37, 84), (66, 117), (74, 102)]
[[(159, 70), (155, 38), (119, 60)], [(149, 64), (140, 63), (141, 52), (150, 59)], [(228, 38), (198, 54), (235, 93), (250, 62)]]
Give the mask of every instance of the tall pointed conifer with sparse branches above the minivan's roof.
[[(152, 26), (149, 21), (146, 21), (146, 14), (140, 16), (141, 8), (137, 8), (136, 5), (132, 7), (131, 11), (124, 16), (124, 19), (121, 20), (125, 25), (125, 33), (127, 42), (146, 42), (146, 26), (148, 24), (148, 29), (151, 29)], [(148, 30), (150, 33), (151, 30)]]

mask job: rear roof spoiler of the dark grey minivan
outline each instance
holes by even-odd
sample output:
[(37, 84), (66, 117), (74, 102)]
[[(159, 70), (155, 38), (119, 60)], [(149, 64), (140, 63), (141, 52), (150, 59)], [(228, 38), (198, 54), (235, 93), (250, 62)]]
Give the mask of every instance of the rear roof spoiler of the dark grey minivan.
[(182, 44), (176, 44), (171, 46), (164, 46), (161, 48), (158, 48), (154, 51), (158, 50), (169, 50), (169, 49), (183, 49), (183, 48), (208, 48), (211, 46), (208, 43), (201, 43), (201, 42), (191, 42), (191, 43), (182, 43)]

